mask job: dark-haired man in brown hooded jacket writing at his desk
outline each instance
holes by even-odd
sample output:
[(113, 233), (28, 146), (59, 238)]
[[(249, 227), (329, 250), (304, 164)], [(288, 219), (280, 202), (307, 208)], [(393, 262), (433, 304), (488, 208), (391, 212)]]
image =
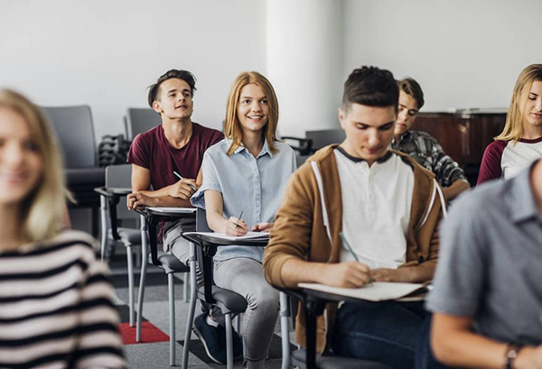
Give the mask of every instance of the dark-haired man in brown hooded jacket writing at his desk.
[[(444, 196), (435, 174), (388, 150), (398, 95), (388, 70), (352, 71), (339, 109), (346, 139), (316, 152), (290, 180), (266, 247), (269, 283), (356, 288), (433, 278)], [(317, 321), (317, 350), (331, 345), (336, 355), (411, 368), (424, 319), (421, 302), (347, 302), (338, 310), (328, 304)], [(299, 316), (296, 337), (304, 345)]]

